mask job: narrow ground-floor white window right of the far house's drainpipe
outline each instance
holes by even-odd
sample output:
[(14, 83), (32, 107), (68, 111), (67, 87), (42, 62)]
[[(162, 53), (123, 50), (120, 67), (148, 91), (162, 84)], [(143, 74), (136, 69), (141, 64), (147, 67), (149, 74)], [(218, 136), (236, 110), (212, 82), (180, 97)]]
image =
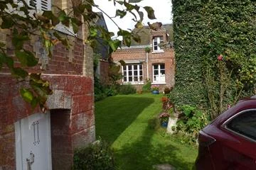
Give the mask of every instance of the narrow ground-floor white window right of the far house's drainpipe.
[(165, 83), (164, 64), (153, 64), (153, 82)]

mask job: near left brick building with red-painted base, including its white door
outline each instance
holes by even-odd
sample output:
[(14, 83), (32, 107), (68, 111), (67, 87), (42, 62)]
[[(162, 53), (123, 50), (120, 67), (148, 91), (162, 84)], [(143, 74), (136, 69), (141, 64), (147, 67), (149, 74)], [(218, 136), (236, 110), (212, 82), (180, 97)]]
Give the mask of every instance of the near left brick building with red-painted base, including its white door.
[[(47, 6), (38, 5), (38, 9), (49, 10), (50, 4), (68, 8), (72, 4), (69, 0), (44, 3)], [(71, 169), (74, 149), (95, 141), (92, 50), (83, 40), (87, 29), (82, 26), (76, 36), (69, 35), (62, 26), (58, 30), (73, 45), (70, 50), (56, 45), (51, 60), (40, 38), (34, 36), (26, 44), (26, 49), (35, 52), (40, 62), (28, 71), (41, 72), (53, 89), (46, 113), (32, 110), (19, 94), (19, 88), (26, 84), (17, 83), (9, 69), (1, 69), (1, 170)], [(9, 30), (0, 30), (0, 41), (6, 44), (7, 51), (11, 48)]]

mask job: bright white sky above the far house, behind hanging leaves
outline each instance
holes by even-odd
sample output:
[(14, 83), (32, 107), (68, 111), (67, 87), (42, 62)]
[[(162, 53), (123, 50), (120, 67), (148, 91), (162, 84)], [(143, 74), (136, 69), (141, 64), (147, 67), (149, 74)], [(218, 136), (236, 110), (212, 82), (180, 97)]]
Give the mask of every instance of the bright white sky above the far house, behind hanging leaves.
[[(114, 6), (113, 1), (109, 0), (94, 0), (95, 4), (99, 6), (99, 8), (102, 9), (102, 11), (105, 11), (108, 16), (113, 17), (115, 16), (115, 11), (117, 8), (122, 9), (120, 6)], [(156, 16), (156, 20), (150, 20), (147, 18), (146, 11), (144, 9), (140, 10), (144, 12), (144, 20), (143, 24), (144, 26), (147, 26), (147, 22), (154, 23), (154, 22), (161, 22), (161, 23), (172, 23), (172, 15), (171, 15), (171, 0), (143, 0), (139, 3), (137, 3), (138, 6), (151, 6), (154, 9), (154, 14)], [(99, 11), (97, 8), (94, 8), (94, 11)], [(108, 18), (106, 15), (104, 16), (105, 21), (107, 23), (107, 28), (110, 32), (114, 32), (115, 34), (118, 31), (117, 26), (114, 25), (114, 23)], [(117, 18), (113, 18), (114, 22), (117, 23), (117, 25), (127, 30), (133, 29), (134, 25), (136, 24), (134, 21), (132, 21), (132, 14), (127, 13), (127, 16), (124, 16), (124, 18), (120, 19), (119, 16)]]

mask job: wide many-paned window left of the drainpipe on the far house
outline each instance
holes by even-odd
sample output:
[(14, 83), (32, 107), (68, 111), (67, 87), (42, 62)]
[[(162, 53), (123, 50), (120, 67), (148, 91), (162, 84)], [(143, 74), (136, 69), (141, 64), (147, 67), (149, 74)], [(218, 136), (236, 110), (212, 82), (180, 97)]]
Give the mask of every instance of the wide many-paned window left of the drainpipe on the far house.
[(127, 64), (122, 67), (123, 81), (131, 84), (143, 83), (142, 64)]

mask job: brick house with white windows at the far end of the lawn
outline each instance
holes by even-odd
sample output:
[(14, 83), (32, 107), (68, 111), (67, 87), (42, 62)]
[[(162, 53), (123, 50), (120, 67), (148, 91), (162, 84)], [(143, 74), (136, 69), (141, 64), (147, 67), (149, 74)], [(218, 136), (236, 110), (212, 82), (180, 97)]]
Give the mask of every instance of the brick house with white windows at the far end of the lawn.
[[(160, 91), (166, 86), (174, 86), (174, 48), (164, 27), (165, 25), (157, 30), (151, 30), (149, 27), (135, 30), (140, 31), (142, 44), (134, 43), (135, 45), (122, 47), (112, 54), (115, 63), (119, 64), (119, 60), (125, 62), (125, 66), (122, 66), (122, 84), (130, 83), (137, 90), (141, 90), (146, 80), (150, 80), (151, 84), (159, 85)], [(161, 45), (164, 47), (160, 47)], [(146, 52), (146, 48), (149, 48), (150, 52)]]

